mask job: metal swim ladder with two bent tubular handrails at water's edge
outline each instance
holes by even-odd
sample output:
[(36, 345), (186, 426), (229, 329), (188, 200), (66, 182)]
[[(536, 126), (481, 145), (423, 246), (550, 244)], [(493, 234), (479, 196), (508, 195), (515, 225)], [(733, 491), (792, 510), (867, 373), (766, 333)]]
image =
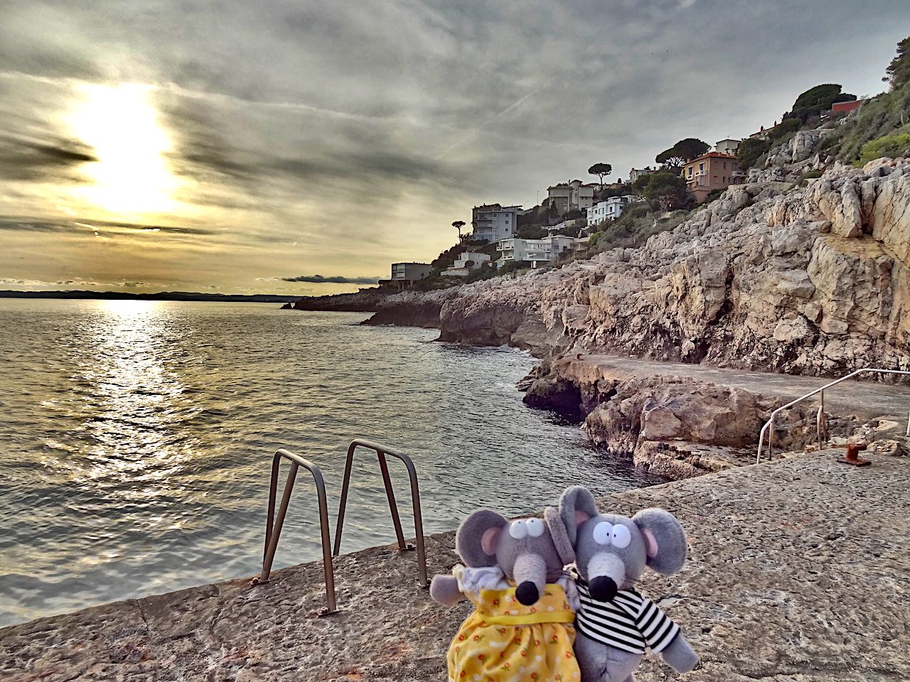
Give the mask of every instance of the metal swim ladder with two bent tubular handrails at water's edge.
[[(319, 609), (319, 616), (328, 616), (338, 612), (338, 604), (335, 598), (335, 569), (332, 564), (332, 557), (338, 557), (341, 548), (341, 531), (344, 527), (345, 508), (348, 504), (348, 490), (350, 484), (350, 473), (354, 462), (354, 452), (358, 447), (364, 447), (373, 450), (379, 459), (379, 471), (382, 474), (382, 483), (386, 489), (386, 496), (389, 499), (389, 512), (392, 517), (392, 524), (395, 527), (395, 536), (398, 539), (399, 551), (414, 549), (413, 545), (406, 543), (404, 533), (401, 530), (401, 519), (398, 512), (398, 504), (395, 501), (395, 493), (392, 490), (391, 478), (389, 477), (389, 466), (386, 462), (386, 455), (394, 456), (404, 462), (408, 469), (410, 479), (410, 496), (411, 505), (414, 510), (414, 532), (415, 542), (417, 543), (417, 567), (420, 577), (419, 585), (427, 587), (429, 580), (427, 578), (427, 553), (423, 539), (423, 517), (420, 513), (420, 489), (417, 481), (417, 469), (410, 456), (405, 455), (388, 446), (382, 446), (378, 443), (355, 438), (348, 446), (348, 456), (345, 463), (344, 482), (341, 486), (341, 501), (339, 504), (338, 527), (335, 531), (334, 552), (329, 550), (331, 547), (331, 538), (329, 536), (329, 507), (326, 501), (326, 485), (322, 477), (319, 466), (308, 460), (306, 457), (299, 456), (284, 448), (279, 449), (272, 456), (272, 474), (268, 486), (268, 518), (266, 521), (266, 543), (262, 556), (262, 573), (250, 581), (250, 585), (262, 585), (268, 583), (271, 575), (272, 562), (275, 559), (275, 551), (278, 549), (278, 539), (281, 536), (281, 527), (284, 526), (285, 516), (288, 513), (288, 502), (290, 501), (291, 491), (294, 488), (294, 482), (300, 466), (306, 468), (313, 476), (316, 484), (316, 494), (319, 501), (319, 532), (322, 542), (322, 567), (326, 579), (326, 606)], [(275, 502), (278, 496), (278, 469), (282, 459), (290, 461), (288, 470), (288, 479), (285, 482), (284, 492), (281, 495), (281, 505), (278, 507), (278, 517), (275, 516)]]

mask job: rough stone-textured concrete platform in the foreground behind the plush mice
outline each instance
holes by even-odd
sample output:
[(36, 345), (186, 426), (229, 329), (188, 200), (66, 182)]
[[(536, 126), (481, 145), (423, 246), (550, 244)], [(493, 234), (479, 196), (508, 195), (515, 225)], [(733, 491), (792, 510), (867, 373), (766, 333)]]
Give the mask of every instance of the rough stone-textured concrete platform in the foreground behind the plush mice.
[[(702, 657), (685, 679), (910, 679), (910, 461), (853, 468), (842, 455), (602, 500), (630, 514), (663, 506), (689, 532), (682, 573), (641, 585)], [(431, 571), (448, 571), (452, 540), (429, 538)], [(0, 630), (0, 679), (444, 680), (469, 607), (434, 604), (416, 576), (413, 553), (379, 547), (339, 558), (343, 611), (331, 617), (312, 616), (324, 603), (316, 563), (266, 586), (237, 580), (42, 618)], [(638, 679), (671, 677), (649, 656)]]

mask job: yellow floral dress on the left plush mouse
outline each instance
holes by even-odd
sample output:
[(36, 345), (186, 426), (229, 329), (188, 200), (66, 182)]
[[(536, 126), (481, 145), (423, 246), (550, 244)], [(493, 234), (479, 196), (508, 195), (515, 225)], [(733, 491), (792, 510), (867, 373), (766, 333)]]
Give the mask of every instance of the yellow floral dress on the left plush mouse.
[(560, 585), (547, 584), (531, 607), (514, 585), (464, 594), (475, 609), (449, 647), (450, 682), (579, 682), (575, 614)]

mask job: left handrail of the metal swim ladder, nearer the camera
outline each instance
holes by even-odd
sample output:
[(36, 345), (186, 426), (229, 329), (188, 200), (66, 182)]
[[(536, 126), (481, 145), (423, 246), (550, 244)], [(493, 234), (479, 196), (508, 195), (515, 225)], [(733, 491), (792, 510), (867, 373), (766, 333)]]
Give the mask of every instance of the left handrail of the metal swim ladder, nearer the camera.
[[(281, 495), (281, 506), (278, 507), (278, 518), (275, 518), (275, 497), (278, 494), (278, 467), (282, 459), (290, 460), (288, 480)], [(288, 450), (280, 449), (272, 457), (272, 476), (268, 486), (268, 521), (266, 522), (266, 547), (262, 555), (262, 574), (254, 578), (253, 585), (268, 583), (271, 574), (272, 561), (275, 559), (275, 550), (278, 548), (278, 538), (281, 527), (284, 525), (285, 515), (288, 513), (288, 502), (291, 490), (294, 489), (294, 480), (297, 478), (298, 468), (305, 467), (316, 482), (316, 492), (319, 497), (319, 530), (322, 534), (322, 567), (326, 575), (326, 601), (327, 607), (319, 609), (319, 616), (326, 616), (338, 611), (335, 603), (335, 573), (332, 567), (332, 555), (329, 552), (331, 538), (329, 537), (329, 506), (326, 503), (326, 484), (322, 479), (319, 466), (310, 462), (306, 457), (301, 457)], [(274, 521), (274, 525), (273, 525)]]

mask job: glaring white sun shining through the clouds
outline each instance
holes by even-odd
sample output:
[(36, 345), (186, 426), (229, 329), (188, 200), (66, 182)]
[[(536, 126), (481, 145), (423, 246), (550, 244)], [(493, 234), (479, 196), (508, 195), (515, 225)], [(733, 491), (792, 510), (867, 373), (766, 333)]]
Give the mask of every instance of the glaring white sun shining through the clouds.
[(90, 184), (79, 194), (118, 215), (167, 212), (177, 178), (167, 164), (171, 141), (158, 123), (151, 85), (81, 85), (68, 116), (76, 138), (94, 149)]

